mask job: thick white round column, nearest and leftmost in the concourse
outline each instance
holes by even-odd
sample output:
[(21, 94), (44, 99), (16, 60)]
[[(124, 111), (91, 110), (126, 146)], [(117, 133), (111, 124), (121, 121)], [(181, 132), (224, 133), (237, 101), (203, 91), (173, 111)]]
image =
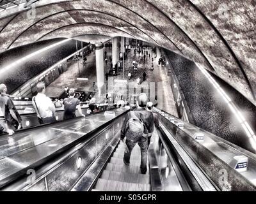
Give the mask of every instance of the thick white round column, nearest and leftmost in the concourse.
[(97, 87), (99, 95), (105, 94), (105, 83), (104, 83), (104, 59), (103, 59), (103, 43), (96, 44), (95, 48), (96, 57), (96, 71), (97, 71)]

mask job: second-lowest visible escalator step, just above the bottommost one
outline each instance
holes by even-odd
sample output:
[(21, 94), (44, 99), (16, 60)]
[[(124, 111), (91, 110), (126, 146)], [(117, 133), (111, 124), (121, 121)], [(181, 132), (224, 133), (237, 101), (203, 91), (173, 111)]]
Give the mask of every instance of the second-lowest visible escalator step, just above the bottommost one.
[(101, 179), (118, 180), (120, 182), (136, 183), (136, 184), (150, 184), (149, 175), (136, 174), (136, 173), (123, 173), (118, 171), (104, 170)]

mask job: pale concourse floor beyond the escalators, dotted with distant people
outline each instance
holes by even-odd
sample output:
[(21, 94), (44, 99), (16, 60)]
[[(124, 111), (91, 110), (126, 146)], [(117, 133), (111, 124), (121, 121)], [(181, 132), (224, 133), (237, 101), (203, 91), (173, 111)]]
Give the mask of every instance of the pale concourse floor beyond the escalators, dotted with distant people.
[[(109, 56), (112, 58), (112, 48), (105, 48), (103, 52), (107, 52), (108, 63), (106, 64), (104, 61), (104, 72), (108, 72), (111, 67), (111, 62), (109, 61)], [(143, 87), (146, 83), (149, 82), (162, 82), (163, 83), (163, 107), (161, 109), (166, 112), (178, 117), (177, 110), (175, 107), (175, 100), (173, 98), (173, 93), (170, 84), (170, 77), (168, 76), (168, 64), (165, 66), (158, 66), (158, 59), (161, 56), (161, 51), (157, 48), (156, 55), (152, 52), (151, 48), (148, 48), (148, 54), (150, 57), (146, 57), (145, 63), (143, 62), (143, 55), (139, 55), (138, 52), (134, 55), (134, 48), (131, 48), (131, 51), (127, 53), (127, 60), (124, 62), (124, 80), (128, 80), (128, 73), (131, 71), (132, 78), (128, 80), (128, 82), (136, 83), (138, 77), (140, 77), (141, 81), (143, 79), (142, 74), (145, 71), (147, 74), (145, 82), (141, 82), (139, 86)], [(156, 56), (156, 57), (155, 57)], [(150, 68), (152, 66), (152, 57), (154, 57), (154, 70), (151, 71)], [(71, 61), (68, 65), (68, 70), (65, 71), (58, 77), (54, 82), (46, 87), (46, 95), (56, 97), (60, 95), (63, 91), (64, 87), (67, 86), (69, 88), (75, 88), (79, 91), (96, 91), (97, 86), (93, 87), (93, 82), (97, 85), (97, 73), (96, 73), (96, 64), (95, 64), (95, 52), (91, 52), (88, 56), (86, 56), (87, 61), (85, 66), (81, 61)], [(138, 70), (134, 71), (132, 69), (132, 61), (138, 62)], [(79, 68), (78, 68), (79, 63)], [(80, 70), (80, 75), (79, 75)], [(105, 75), (104, 73), (104, 75)], [(88, 78), (88, 81), (79, 81), (77, 77)], [(123, 79), (123, 73), (119, 73), (118, 77), (114, 77), (114, 79)], [(106, 78), (105, 78), (106, 82)], [(107, 84), (107, 82), (106, 82)], [(137, 83), (136, 83), (137, 84)], [(119, 93), (120, 90), (114, 90)], [(96, 94), (97, 95), (97, 94)]]

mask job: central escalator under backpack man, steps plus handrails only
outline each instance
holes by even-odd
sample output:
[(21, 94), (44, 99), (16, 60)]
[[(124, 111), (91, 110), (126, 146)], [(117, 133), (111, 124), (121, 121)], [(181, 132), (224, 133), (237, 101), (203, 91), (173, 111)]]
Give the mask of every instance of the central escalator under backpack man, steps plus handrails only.
[[(88, 180), (81, 177), (72, 191), (216, 191), (209, 178), (188, 156), (185, 158), (186, 163), (196, 171), (200, 182), (192, 179), (194, 175), (179, 164), (175, 157), (180, 152), (171, 152), (173, 147), (168, 147), (162, 128), (155, 129), (152, 135), (145, 174), (140, 171), (141, 152), (138, 144), (132, 149), (130, 164), (127, 166), (123, 161), (124, 143), (120, 142), (119, 137), (120, 133), (117, 133), (116, 147), (113, 147), (104, 164), (98, 166), (99, 173), (95, 175), (92, 184), (86, 185)], [(182, 160), (184, 155), (178, 157)]]

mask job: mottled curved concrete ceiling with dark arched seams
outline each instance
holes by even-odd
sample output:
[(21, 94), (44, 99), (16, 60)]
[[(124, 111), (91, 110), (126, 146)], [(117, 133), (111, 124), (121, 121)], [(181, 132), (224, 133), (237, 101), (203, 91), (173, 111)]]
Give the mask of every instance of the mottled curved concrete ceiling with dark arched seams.
[(256, 105), (254, 0), (40, 0), (0, 12), (0, 52), (83, 34), (148, 41), (204, 65)]

